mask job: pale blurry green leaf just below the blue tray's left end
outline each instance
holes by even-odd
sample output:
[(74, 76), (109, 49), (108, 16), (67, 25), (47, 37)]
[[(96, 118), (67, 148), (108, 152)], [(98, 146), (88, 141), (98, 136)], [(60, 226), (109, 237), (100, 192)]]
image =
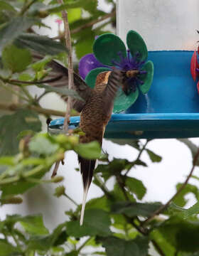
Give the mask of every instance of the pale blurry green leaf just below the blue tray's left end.
[(29, 143), (29, 149), (38, 154), (52, 155), (58, 150), (58, 145), (48, 139), (48, 134), (37, 134)]

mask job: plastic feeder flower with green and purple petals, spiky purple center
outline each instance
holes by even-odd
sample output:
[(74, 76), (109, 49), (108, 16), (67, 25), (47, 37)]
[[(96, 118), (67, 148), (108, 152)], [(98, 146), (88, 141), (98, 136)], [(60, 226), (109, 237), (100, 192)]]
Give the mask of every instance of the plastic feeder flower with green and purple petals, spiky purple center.
[[(149, 60), (144, 40), (139, 33), (127, 33), (127, 46), (112, 33), (99, 36), (94, 45), (93, 53), (80, 60), (80, 75), (90, 87), (95, 86), (99, 73), (116, 67), (124, 73), (123, 87), (119, 88), (114, 100), (114, 113), (127, 110), (139, 96), (139, 91), (146, 94), (153, 81), (154, 64)], [(89, 72), (89, 73), (88, 73)]]

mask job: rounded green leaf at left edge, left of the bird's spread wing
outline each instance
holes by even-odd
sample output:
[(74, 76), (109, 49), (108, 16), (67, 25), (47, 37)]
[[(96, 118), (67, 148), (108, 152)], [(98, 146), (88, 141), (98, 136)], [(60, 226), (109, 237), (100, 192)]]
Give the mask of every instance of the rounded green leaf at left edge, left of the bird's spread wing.
[(13, 73), (21, 72), (31, 64), (31, 53), (28, 49), (17, 48), (14, 45), (6, 46), (2, 52), (2, 61), (5, 68)]

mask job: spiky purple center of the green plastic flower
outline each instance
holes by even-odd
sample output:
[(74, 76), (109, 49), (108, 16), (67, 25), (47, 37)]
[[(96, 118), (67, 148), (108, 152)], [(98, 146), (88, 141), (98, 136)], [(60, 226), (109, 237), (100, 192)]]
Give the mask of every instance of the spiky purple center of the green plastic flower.
[[(127, 57), (124, 57), (121, 52), (118, 53), (119, 61), (112, 60), (112, 63), (116, 68), (122, 70), (124, 72), (123, 78), (123, 90), (129, 95), (131, 92), (135, 92), (138, 85), (143, 85), (144, 82), (141, 80), (140, 75), (144, 75), (147, 72), (145, 70), (141, 70), (145, 61), (140, 61), (139, 52), (135, 53), (134, 57), (131, 56), (130, 50), (127, 50)], [(128, 73), (128, 71), (136, 71)]]

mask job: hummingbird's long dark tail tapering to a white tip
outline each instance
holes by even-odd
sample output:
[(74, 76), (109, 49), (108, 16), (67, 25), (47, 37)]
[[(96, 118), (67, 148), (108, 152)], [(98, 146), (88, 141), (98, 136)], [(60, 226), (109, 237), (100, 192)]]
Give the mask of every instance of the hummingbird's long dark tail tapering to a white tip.
[(81, 156), (78, 156), (78, 160), (80, 164), (80, 171), (82, 174), (83, 189), (84, 189), (83, 200), (82, 200), (82, 210), (80, 215), (80, 225), (82, 225), (84, 220), (84, 215), (85, 215), (85, 204), (87, 199), (87, 192), (90, 188), (93, 171), (96, 168), (96, 160), (83, 159)]

